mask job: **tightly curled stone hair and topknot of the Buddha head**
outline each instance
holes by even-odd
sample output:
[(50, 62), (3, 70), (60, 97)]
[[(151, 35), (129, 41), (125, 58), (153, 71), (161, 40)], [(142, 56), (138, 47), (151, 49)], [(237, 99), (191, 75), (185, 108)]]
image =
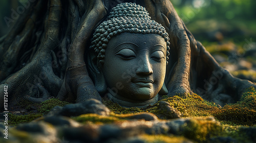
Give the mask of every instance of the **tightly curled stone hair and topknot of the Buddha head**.
[(160, 23), (151, 20), (144, 7), (135, 3), (121, 3), (112, 8), (107, 19), (96, 28), (90, 46), (98, 54), (97, 58), (100, 63), (104, 63), (105, 49), (109, 40), (124, 32), (159, 34), (166, 41), (166, 59), (169, 59), (169, 35)]

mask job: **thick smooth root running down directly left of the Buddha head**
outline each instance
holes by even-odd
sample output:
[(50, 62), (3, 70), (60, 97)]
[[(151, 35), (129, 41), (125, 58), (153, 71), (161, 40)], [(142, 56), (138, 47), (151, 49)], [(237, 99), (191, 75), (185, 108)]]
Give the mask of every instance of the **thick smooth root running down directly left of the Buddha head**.
[[(62, 84), (58, 99), (68, 99), (66, 101), (76, 99), (76, 102), (81, 103), (89, 99), (97, 99), (101, 101), (100, 95), (97, 92), (91, 78), (89, 77), (86, 64), (84, 62), (85, 45), (90, 40), (90, 33), (105, 15), (106, 11), (102, 1), (93, 2), (86, 5), (87, 12), (82, 16), (79, 30), (74, 37), (69, 49), (69, 60), (66, 70), (65, 83)], [(80, 8), (79, 8), (80, 10)], [(91, 11), (89, 11), (91, 10)], [(92, 21), (91, 19), (94, 18)], [(95, 19), (96, 18), (96, 19)]]

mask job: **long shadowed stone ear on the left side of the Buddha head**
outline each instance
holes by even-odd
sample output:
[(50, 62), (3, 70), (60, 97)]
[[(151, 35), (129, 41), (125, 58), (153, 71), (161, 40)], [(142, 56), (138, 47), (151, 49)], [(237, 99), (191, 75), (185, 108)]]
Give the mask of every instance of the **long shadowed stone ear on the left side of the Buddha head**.
[(94, 50), (89, 50), (87, 54), (87, 63), (88, 63), (88, 70), (92, 79), (94, 81), (94, 85), (99, 92), (100, 95), (106, 93), (106, 82), (103, 76), (101, 68), (98, 66), (101, 63), (98, 62), (97, 55), (95, 54)]

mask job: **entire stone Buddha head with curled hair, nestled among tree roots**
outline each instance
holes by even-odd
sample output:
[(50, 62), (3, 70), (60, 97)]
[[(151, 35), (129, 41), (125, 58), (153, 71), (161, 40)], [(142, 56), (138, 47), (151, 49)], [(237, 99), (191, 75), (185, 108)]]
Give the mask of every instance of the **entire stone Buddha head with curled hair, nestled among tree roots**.
[(88, 57), (96, 89), (124, 107), (146, 107), (167, 93), (169, 55), (164, 27), (145, 8), (122, 3), (96, 28)]

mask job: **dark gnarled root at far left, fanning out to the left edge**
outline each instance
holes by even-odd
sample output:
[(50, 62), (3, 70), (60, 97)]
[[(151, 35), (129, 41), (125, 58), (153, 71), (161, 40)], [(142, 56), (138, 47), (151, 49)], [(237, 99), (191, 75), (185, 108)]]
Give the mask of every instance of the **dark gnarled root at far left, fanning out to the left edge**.
[[(38, 98), (38, 92), (41, 93), (40, 98), (47, 99), (46, 91), (42, 92), (42, 87), (38, 88), (38, 86), (44, 86), (52, 96), (57, 96), (61, 80), (53, 73), (50, 53), (58, 44), (60, 11), (60, 1), (52, 0), (45, 41), (41, 42), (30, 63), (8, 78), (5, 84), (0, 85), (0, 89), (3, 89), (5, 85), (8, 86), (9, 101), (11, 101), (9, 102), (9, 107), (17, 104), (25, 96)], [(2, 100), (3, 98), (4, 94), (1, 92), (0, 99)], [(3, 102), (0, 103), (0, 106), (1, 110), (3, 110)]]

